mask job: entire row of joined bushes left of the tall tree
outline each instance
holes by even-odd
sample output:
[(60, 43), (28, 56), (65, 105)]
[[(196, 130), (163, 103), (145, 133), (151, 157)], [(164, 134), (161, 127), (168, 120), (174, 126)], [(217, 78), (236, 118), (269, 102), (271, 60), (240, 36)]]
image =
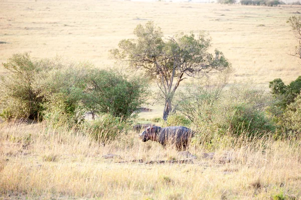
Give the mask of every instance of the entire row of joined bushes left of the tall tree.
[(146, 79), (99, 70), (89, 63), (59, 57), (32, 61), (29, 54), (16, 54), (3, 66), (11, 72), (0, 82), (0, 116), (7, 120), (29, 118), (73, 126), (87, 111), (93, 117), (110, 113), (125, 120), (148, 97)]

